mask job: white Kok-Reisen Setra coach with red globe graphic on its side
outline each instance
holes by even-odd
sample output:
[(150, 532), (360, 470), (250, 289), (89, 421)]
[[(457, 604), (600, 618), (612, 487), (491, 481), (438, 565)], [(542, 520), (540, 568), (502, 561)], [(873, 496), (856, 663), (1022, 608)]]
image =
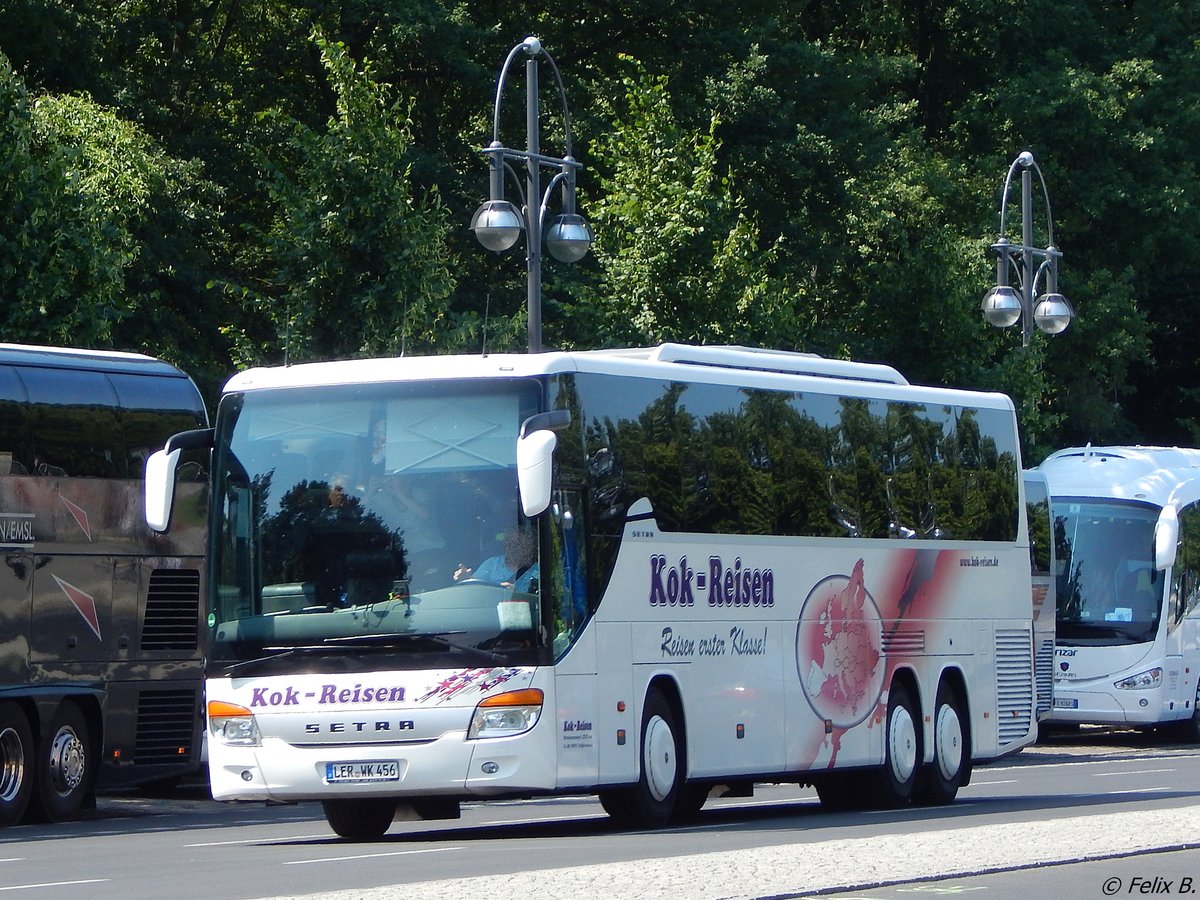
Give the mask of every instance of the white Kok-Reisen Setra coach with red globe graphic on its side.
[(211, 431), (212, 793), (947, 803), (1036, 738), (1012, 402), (664, 344), (259, 368)]

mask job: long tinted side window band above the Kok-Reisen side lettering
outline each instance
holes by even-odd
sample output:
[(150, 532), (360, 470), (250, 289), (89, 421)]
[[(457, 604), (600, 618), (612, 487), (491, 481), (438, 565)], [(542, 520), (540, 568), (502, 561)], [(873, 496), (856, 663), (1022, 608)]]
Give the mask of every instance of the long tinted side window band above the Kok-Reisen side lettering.
[(578, 376), (592, 499), (619, 530), (1016, 538), (1003, 410)]

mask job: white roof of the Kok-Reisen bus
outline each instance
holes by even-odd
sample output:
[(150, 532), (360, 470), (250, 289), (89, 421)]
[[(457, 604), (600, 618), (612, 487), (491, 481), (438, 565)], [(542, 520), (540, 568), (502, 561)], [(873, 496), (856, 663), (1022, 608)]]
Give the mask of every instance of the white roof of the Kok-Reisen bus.
[(911, 385), (890, 366), (808, 353), (664, 343), (658, 347), (488, 355), (401, 356), (250, 368), (226, 392), (449, 378), (520, 378), (594, 372), (664, 380), (739, 384), (776, 390), (847, 392), (884, 400), (970, 402), (1012, 408), (1003, 394)]

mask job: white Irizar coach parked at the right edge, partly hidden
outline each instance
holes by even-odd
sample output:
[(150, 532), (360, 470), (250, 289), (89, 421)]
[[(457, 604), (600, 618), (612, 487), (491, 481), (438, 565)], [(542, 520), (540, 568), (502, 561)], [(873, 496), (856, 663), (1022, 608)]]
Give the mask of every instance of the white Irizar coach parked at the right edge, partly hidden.
[(1070, 448), (1038, 468), (1058, 568), (1049, 721), (1200, 740), (1200, 450)]

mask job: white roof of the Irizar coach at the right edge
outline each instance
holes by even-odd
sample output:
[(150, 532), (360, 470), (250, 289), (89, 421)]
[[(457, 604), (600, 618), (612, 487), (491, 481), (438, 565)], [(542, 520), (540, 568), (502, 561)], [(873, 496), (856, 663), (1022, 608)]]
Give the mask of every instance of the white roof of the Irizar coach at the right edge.
[(1038, 467), (1051, 497), (1097, 497), (1165, 506), (1200, 496), (1200, 450), (1180, 446), (1076, 446)]

